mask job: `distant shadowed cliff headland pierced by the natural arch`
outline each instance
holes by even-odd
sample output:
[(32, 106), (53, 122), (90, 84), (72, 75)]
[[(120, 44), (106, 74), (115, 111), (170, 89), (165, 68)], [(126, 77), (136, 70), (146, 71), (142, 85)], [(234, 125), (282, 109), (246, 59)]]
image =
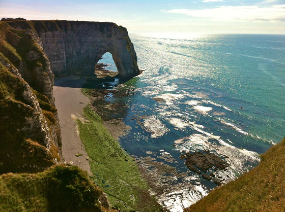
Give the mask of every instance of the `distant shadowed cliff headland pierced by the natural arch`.
[(11, 21), (17, 29), (37, 32), (55, 76), (94, 74), (95, 65), (109, 52), (121, 78), (140, 74), (128, 31), (108, 22)]

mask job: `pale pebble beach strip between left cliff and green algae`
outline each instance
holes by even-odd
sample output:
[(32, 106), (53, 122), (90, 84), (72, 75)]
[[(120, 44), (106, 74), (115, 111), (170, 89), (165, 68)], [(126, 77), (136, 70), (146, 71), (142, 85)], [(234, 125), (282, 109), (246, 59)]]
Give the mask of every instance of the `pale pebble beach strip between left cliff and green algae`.
[(53, 95), (60, 120), (64, 161), (92, 174), (76, 123), (77, 119), (84, 119), (82, 110), (89, 103), (89, 98), (81, 92), (84, 83), (86, 80), (78, 77), (55, 79)]

